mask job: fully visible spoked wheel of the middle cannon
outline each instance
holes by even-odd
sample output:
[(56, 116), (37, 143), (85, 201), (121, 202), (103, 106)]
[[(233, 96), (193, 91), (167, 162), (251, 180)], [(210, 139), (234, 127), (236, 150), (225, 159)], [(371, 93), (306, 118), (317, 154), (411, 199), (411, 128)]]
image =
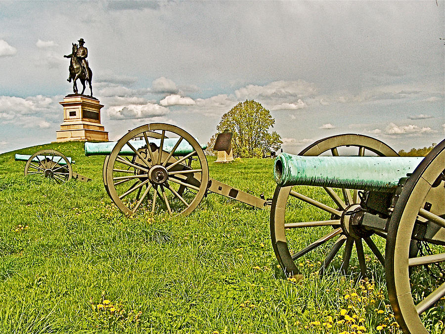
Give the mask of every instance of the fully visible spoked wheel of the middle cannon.
[(104, 184), (127, 215), (188, 215), (200, 203), (209, 182), (209, 167), (200, 144), (177, 126), (140, 126), (114, 146), (105, 159)]

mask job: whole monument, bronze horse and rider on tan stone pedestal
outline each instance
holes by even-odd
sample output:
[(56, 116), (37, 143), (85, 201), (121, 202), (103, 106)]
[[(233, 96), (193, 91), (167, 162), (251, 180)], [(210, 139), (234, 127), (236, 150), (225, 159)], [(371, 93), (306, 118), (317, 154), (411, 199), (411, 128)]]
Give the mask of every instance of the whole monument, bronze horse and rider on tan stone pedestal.
[[(92, 71), (89, 68), (88, 49), (84, 47), (85, 41), (81, 38), (79, 47), (73, 43), (72, 53), (64, 55), (70, 58), (68, 82), (73, 80), (74, 94), (66, 95), (63, 102), (63, 123), (56, 131), (57, 142), (68, 141), (108, 141), (108, 132), (100, 124), (100, 109), (103, 107), (99, 100), (92, 96)], [(81, 94), (78, 94), (76, 81), (79, 79), (83, 85)], [(84, 95), (85, 83), (89, 84), (91, 95)]]

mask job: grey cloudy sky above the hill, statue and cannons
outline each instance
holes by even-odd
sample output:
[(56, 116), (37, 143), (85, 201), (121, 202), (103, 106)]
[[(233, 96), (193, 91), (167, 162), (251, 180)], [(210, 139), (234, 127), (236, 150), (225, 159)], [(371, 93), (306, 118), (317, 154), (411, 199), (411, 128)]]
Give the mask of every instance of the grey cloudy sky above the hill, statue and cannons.
[(342, 133), (444, 138), (444, 1), (0, 1), (0, 153), (55, 141), (83, 38), (111, 140), (150, 122), (207, 142), (254, 99), (298, 153)]

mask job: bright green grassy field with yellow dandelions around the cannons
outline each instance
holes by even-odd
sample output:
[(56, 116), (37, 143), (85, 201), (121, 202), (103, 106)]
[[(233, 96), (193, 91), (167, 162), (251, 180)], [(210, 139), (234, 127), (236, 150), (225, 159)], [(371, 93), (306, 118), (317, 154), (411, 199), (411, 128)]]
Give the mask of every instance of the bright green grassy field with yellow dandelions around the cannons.
[[(25, 178), (14, 153), (42, 148), (93, 181)], [(269, 210), (209, 194), (185, 218), (127, 218), (105, 192), (103, 159), (83, 143), (0, 155), (0, 333), (397, 332), (374, 258), (365, 283), (319, 278), (315, 254), (295, 284), (277, 266)], [(212, 161), (211, 177), (272, 196), (272, 160)]]

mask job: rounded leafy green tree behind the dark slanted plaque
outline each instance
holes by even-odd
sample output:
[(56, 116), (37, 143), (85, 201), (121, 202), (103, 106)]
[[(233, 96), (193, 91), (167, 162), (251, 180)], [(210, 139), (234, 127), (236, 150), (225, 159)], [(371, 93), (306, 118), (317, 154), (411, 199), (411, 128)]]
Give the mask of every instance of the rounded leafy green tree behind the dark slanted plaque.
[[(242, 158), (262, 157), (270, 150), (276, 151), (283, 143), (281, 137), (269, 128), (275, 120), (269, 110), (254, 100), (239, 102), (225, 113), (217, 126), (218, 132), (233, 133), (233, 155)], [(212, 147), (213, 148), (213, 147)]]

